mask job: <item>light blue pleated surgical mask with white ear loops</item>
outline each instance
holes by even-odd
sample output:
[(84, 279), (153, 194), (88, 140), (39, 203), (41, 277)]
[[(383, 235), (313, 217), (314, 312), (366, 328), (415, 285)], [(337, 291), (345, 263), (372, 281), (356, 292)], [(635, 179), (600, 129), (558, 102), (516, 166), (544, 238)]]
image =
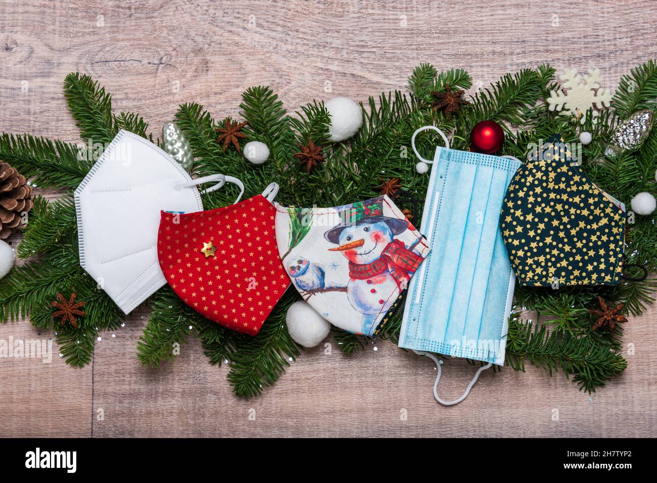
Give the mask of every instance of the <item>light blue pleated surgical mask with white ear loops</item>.
[[(438, 131), (447, 145), (436, 147), (433, 161), (415, 149), (415, 137), (426, 129)], [(418, 158), (433, 163), (421, 225), (431, 251), (409, 284), (399, 347), (430, 356), (438, 366), (436, 400), (456, 404), (482, 370), (504, 364), (515, 276), (498, 222), (522, 163), (449, 149), (434, 126), (416, 131), (412, 144)], [(437, 394), (441, 364), (432, 353), (488, 364), (461, 398), (448, 402)]]

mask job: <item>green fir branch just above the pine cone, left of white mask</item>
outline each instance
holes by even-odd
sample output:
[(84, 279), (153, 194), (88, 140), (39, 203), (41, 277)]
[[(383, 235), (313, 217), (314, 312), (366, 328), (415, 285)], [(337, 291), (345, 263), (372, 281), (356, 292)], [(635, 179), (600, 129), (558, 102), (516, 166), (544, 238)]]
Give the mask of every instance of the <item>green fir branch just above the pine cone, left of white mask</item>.
[(41, 188), (78, 186), (93, 165), (78, 155), (78, 146), (68, 142), (28, 134), (0, 135), (0, 159)]

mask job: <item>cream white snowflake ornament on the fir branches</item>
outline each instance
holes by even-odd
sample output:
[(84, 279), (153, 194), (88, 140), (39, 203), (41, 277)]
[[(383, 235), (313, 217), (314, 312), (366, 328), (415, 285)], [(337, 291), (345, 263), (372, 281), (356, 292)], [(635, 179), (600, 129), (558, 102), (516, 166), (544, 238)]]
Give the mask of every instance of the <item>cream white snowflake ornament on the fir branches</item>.
[[(566, 69), (559, 75), (564, 81), (561, 89), (552, 91), (547, 104), (551, 111), (558, 110), (579, 119), (579, 123), (586, 121), (586, 113), (591, 108), (608, 108), (612, 100), (609, 89), (600, 88), (600, 69), (589, 70), (589, 74), (579, 75), (577, 69)], [(593, 121), (598, 117), (593, 110)]]

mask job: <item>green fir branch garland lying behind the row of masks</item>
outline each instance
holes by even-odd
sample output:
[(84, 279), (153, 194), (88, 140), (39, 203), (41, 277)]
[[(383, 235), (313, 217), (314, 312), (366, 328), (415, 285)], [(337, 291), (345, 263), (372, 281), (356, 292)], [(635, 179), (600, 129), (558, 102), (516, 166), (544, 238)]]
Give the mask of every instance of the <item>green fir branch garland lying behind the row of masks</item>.
[[(530, 143), (554, 133), (560, 133), (566, 142), (578, 142), (581, 133), (590, 133), (591, 142), (582, 150), (582, 168), (597, 186), (624, 203), (639, 192), (657, 193), (657, 129), (635, 152), (603, 156), (619, 123), (637, 110), (654, 110), (655, 62), (624, 75), (611, 107), (600, 110), (597, 119), (593, 109), (576, 112), (576, 116), (551, 110), (547, 99), (560, 93), (560, 85), (549, 65), (504, 75), (465, 102), (459, 90), (470, 87), (472, 79), (464, 70), (438, 74), (434, 66), (422, 64), (409, 77), (409, 93), (395, 91), (361, 104), (363, 126), (347, 142), (330, 142), (331, 117), (323, 102), (313, 101), (290, 116), (277, 95), (261, 86), (242, 95), (240, 120), (214, 119), (202, 106), (192, 103), (181, 105), (174, 121), (191, 143), (194, 176), (237, 176), (244, 182), (246, 196), (260, 193), (275, 181), (281, 186), (279, 201), (302, 206), (342, 205), (374, 198), (385, 190), (395, 192), (401, 185), (403, 196), (396, 202), (413, 217), (420, 231), (421, 200), (428, 176), (417, 173), (410, 144), (413, 132), (428, 124), (452, 133), (452, 148), (468, 150), (473, 127), (481, 121), (495, 121), (505, 132), (498, 154), (520, 159), (526, 158)], [(96, 154), (120, 129), (153, 141), (141, 116), (112, 112), (110, 95), (91, 77), (69, 74), (64, 95), (81, 138), (88, 140), (89, 146), (101, 146)], [(246, 140), (266, 144), (269, 159), (258, 165), (247, 161), (239, 150)], [(417, 139), (424, 156), (432, 156), (437, 144), (440, 139), (432, 133)], [(4, 133), (0, 137), (0, 159), (30, 179), (35, 188), (34, 207), (17, 248), (18, 256), (28, 261), (14, 267), (0, 282), (0, 320), (29, 317), (39, 329), (53, 327), (60, 353), (74, 366), (90, 362), (99, 331), (116, 329), (124, 320), (118, 307), (79, 265), (72, 190), (87, 175), (94, 158), (79, 156), (79, 152), (74, 144), (31, 135)], [(65, 193), (49, 202), (38, 194), (39, 188), (63, 189)], [(229, 205), (236, 195), (235, 188), (228, 185), (204, 194), (204, 209)], [(654, 274), (656, 240), (654, 216), (635, 217), (625, 236), (626, 263), (645, 266)], [(612, 305), (609, 310), (615, 310), (614, 316), (619, 316), (616, 320), (622, 322), (622, 314), (636, 316), (652, 304), (656, 289), (654, 278), (558, 290), (516, 286), (507, 364), (524, 370), (528, 361), (547, 369), (550, 375), (561, 368), (580, 389), (595, 390), (627, 367), (620, 353), (622, 327), (599, 327), (600, 315), (595, 311), (608, 301)], [(194, 335), (201, 339), (210, 362), (229, 364), (228, 379), (235, 392), (255, 396), (281, 376), (289, 358), (300, 355), (284, 324), (288, 307), (298, 300), (300, 295), (288, 290), (260, 333), (250, 337), (200, 316), (169, 287), (163, 287), (147, 302), (151, 313), (137, 345), (139, 360), (147, 366), (172, 361), (176, 353), (173, 347)], [(53, 321), (54, 308), (59, 309), (55, 314), (62, 316), (61, 321)], [(535, 320), (522, 319), (523, 312), (534, 312)], [(64, 324), (68, 316), (73, 319)], [(379, 336), (396, 342), (400, 326), (398, 311)], [(346, 354), (364, 347), (365, 340), (358, 335), (334, 329), (333, 337)]]

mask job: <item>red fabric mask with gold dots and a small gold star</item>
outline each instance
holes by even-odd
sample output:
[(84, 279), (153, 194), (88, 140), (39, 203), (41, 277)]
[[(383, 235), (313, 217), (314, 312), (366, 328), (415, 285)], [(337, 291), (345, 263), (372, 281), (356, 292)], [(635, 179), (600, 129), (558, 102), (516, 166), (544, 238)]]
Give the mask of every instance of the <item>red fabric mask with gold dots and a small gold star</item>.
[(160, 268), (178, 297), (217, 324), (249, 335), (260, 331), (290, 285), (276, 244), (270, 188), (267, 198), (259, 194), (210, 211), (162, 211), (158, 231)]

